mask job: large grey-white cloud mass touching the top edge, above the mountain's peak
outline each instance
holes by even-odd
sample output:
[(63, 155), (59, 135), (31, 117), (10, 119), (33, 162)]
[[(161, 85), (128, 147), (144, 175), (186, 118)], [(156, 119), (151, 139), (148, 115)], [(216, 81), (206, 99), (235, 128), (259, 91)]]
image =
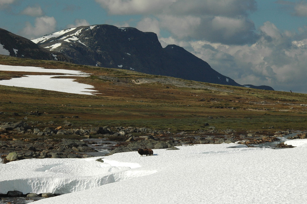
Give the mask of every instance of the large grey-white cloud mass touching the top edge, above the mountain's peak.
[[(146, 14), (140, 28), (167, 30), (179, 39), (209, 40), (225, 44), (255, 43), (258, 38), (248, 15), (255, 0), (96, 0), (109, 14)], [(150, 17), (149, 17), (150, 16)], [(153, 25), (145, 25), (145, 19)], [(159, 33), (157, 33), (159, 34)]]

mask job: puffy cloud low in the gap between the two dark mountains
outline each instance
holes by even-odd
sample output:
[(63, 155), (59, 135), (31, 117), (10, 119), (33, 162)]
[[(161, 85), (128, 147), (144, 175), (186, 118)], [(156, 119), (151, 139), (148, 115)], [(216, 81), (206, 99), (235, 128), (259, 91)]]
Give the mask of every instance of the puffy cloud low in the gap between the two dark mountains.
[(34, 26), (30, 22), (25, 23), (21, 30), (21, 35), (29, 39), (41, 37), (45, 34), (54, 32), (56, 29), (56, 20), (54, 17), (42, 16), (35, 19)]

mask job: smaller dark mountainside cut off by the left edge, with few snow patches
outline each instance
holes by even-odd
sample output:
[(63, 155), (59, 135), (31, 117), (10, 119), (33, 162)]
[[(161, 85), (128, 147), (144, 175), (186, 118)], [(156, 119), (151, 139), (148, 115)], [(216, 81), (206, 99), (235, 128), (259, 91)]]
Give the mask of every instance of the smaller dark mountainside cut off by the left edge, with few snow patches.
[(0, 54), (37, 60), (72, 61), (62, 53), (44, 49), (27, 38), (15, 35), (14, 33), (1, 28)]

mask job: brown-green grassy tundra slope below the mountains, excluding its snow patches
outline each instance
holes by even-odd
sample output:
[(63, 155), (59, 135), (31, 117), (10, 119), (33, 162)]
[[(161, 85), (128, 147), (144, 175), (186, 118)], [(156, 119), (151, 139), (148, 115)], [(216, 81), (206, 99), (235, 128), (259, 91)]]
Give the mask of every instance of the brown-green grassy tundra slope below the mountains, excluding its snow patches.
[[(122, 69), (3, 55), (0, 55), (0, 64), (91, 73), (91, 77), (80, 77), (77, 81), (95, 86), (100, 93), (88, 96), (0, 85), (0, 112), (4, 112), (0, 114), (0, 121), (19, 121), (27, 116), (29, 121), (46, 123), (69, 120), (78, 128), (133, 126), (193, 131), (207, 129), (208, 123), (218, 130), (307, 129), (306, 94), (208, 84)], [(25, 73), (0, 72), (0, 79), (22, 74)], [(45, 114), (26, 114), (31, 111)], [(20, 116), (13, 116), (14, 112)]]

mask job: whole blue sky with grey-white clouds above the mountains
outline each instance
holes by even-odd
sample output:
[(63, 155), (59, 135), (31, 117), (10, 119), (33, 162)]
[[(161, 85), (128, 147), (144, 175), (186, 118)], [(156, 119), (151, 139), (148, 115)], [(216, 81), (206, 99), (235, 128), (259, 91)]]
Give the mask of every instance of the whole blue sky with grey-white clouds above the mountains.
[(29, 39), (80, 25), (135, 27), (239, 84), (307, 93), (307, 0), (0, 0), (0, 19)]

